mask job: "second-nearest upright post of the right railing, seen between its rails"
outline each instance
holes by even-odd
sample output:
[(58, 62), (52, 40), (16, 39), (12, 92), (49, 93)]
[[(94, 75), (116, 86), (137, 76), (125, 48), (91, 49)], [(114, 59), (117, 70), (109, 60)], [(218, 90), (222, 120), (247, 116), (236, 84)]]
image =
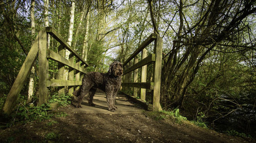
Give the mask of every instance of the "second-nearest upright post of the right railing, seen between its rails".
[[(146, 58), (147, 56), (147, 51), (146, 49), (142, 50), (142, 55), (141, 55), (141, 60)], [(146, 65), (141, 67), (141, 82), (146, 82)], [(141, 100), (146, 100), (146, 89), (140, 89), (140, 99)]]

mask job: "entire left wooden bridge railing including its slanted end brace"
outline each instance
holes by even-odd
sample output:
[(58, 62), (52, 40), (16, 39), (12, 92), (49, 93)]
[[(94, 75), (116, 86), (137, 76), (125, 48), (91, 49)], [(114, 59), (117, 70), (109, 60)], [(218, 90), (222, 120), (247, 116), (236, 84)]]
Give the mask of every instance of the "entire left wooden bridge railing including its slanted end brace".
[[(52, 36), (60, 43), (58, 52), (54, 52), (48, 48), (48, 36)], [(68, 49), (71, 54), (69, 60), (65, 59), (65, 49)], [(38, 33), (32, 47), (25, 59), (22, 68), (20, 69), (12, 88), (7, 96), (4, 112), (10, 113), (16, 104), (16, 100), (20, 91), (22, 90), (26, 79), (30, 73), (34, 62), (38, 55), (38, 94), (39, 105), (47, 103), (49, 98), (49, 87), (59, 87), (58, 93), (65, 93), (66, 86), (68, 87), (69, 94), (72, 94), (74, 87), (81, 84), (81, 79), (88, 67), (88, 64), (81, 58), (81, 56), (56, 32), (52, 27), (46, 27)], [(58, 79), (49, 79), (49, 59), (58, 62)], [(65, 80), (65, 66), (69, 67), (68, 80)]]

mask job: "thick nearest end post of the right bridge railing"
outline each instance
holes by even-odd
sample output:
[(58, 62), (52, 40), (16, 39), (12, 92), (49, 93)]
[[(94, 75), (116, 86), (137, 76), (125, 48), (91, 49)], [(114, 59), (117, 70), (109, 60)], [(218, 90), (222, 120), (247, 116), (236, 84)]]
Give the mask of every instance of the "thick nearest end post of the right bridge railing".
[(157, 39), (155, 40), (155, 47), (154, 47), (154, 53), (156, 54), (156, 62), (154, 64), (153, 111), (162, 110), (162, 107), (160, 105), (162, 47), (163, 47), (163, 40), (159, 35), (157, 35)]

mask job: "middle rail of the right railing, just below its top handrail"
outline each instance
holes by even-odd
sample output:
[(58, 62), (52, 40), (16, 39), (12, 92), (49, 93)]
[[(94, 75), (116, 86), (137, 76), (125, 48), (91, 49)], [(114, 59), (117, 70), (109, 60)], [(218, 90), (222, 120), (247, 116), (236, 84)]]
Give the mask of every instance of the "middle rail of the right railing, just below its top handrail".
[(147, 64), (149, 64), (151, 62), (154, 62), (155, 61), (155, 57), (156, 56), (155, 56), (154, 53), (152, 55), (147, 56), (145, 59), (143, 59), (140, 62), (138, 62), (137, 64), (133, 65), (131, 68), (125, 70), (123, 72), (123, 74), (129, 73), (129, 72), (131, 72), (133, 70), (136, 70), (136, 69), (138, 69), (138, 68), (140, 68), (142, 66), (145, 66), (145, 65), (147, 65)]

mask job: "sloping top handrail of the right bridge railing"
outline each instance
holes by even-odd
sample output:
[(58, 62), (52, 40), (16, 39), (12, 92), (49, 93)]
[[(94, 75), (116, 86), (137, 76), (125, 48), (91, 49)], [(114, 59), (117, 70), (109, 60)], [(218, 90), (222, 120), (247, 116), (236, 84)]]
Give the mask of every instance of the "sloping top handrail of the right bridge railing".
[(123, 66), (125, 66), (128, 62), (130, 62), (139, 52), (141, 52), (147, 45), (149, 45), (156, 38), (157, 38), (157, 35), (152, 33), (145, 41), (143, 41), (139, 45), (139, 47), (134, 51), (134, 53), (123, 63)]

